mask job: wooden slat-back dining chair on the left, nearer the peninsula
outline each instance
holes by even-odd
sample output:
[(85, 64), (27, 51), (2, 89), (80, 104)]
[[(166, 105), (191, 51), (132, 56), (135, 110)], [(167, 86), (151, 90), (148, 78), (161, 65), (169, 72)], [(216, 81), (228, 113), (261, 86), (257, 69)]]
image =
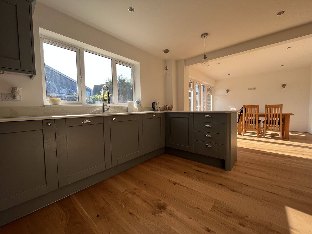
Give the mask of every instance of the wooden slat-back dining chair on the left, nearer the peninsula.
[(243, 135), (246, 130), (251, 130), (256, 131), (259, 136), (261, 124), (261, 120), (258, 118), (259, 105), (244, 105), (243, 108)]

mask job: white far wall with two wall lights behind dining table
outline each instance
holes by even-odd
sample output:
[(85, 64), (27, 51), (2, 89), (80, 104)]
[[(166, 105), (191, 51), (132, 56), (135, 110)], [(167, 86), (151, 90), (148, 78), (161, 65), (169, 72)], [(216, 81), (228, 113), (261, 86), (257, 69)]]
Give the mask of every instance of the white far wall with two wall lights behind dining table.
[[(283, 104), (283, 112), (291, 112), (291, 131), (308, 131), (311, 68), (265, 73), (253, 77), (217, 80), (213, 90), (213, 110), (239, 110), (243, 105)], [(285, 83), (286, 91), (281, 92)], [(256, 90), (248, 91), (248, 88)], [(229, 89), (228, 95), (225, 95)], [(217, 98), (217, 100), (215, 100)], [(310, 103), (311, 105), (311, 103)]]

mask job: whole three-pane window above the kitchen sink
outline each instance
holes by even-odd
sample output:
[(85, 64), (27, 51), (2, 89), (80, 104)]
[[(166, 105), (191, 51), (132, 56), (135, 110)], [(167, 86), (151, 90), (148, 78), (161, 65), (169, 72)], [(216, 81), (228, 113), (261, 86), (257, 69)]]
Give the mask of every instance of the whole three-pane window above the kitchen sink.
[[(107, 85), (111, 104), (135, 100), (132, 64), (60, 41), (40, 40), (44, 96), (60, 97), (62, 104), (101, 105), (102, 88)], [(106, 89), (104, 95), (107, 100)]]

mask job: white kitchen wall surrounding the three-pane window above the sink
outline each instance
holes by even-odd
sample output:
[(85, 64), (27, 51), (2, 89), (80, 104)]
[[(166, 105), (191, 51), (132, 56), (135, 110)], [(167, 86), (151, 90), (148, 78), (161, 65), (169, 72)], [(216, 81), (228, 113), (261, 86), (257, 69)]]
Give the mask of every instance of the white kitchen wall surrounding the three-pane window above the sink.
[(39, 2), (33, 15), (33, 26), (37, 75), (34, 80), (23, 75), (0, 75), (0, 93), (11, 92), (11, 86), (23, 88), (22, 102), (0, 100), (0, 106), (43, 106), (39, 27), (139, 62), (141, 105), (150, 106), (152, 101), (159, 101), (160, 105), (166, 104), (162, 59)]

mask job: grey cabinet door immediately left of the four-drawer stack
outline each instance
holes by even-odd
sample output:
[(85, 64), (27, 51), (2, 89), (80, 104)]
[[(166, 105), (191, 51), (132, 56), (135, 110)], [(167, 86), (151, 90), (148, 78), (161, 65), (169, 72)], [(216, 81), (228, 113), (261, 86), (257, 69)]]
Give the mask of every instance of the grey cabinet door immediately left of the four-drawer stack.
[(194, 152), (193, 113), (166, 113), (166, 147)]

